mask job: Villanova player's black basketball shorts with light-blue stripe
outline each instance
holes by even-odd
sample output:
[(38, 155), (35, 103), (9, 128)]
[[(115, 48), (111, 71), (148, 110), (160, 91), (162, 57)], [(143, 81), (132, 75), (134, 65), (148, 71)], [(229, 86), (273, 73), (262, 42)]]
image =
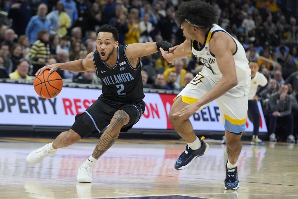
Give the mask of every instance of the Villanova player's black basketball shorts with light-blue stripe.
[(99, 133), (110, 124), (118, 110), (124, 110), (129, 115), (129, 123), (120, 130), (120, 132), (127, 132), (144, 113), (145, 102), (128, 104), (99, 97), (84, 113), (75, 116), (75, 123), (71, 129), (77, 132), (81, 138), (89, 133)]

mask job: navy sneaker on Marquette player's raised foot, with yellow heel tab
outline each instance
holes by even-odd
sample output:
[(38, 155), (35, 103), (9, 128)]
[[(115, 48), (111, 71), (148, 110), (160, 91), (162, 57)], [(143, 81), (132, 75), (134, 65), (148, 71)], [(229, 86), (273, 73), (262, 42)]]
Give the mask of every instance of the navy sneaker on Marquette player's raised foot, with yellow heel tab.
[(186, 150), (178, 157), (175, 163), (175, 169), (181, 170), (189, 167), (193, 160), (209, 151), (209, 145), (203, 141), (204, 139), (204, 136), (200, 138), (201, 148), (199, 149), (192, 150), (188, 145), (186, 146)]

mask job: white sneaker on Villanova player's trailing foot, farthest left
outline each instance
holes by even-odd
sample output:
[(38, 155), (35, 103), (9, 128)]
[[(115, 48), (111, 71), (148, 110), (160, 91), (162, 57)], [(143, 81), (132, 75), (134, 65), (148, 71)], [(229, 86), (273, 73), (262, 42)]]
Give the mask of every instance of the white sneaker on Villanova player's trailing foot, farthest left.
[(51, 152), (50, 151), (50, 144), (46, 144), (45, 146), (33, 150), (31, 153), (29, 153), (29, 155), (27, 155), (26, 157), (26, 161), (28, 164), (37, 164), (39, 163), (41, 160), (43, 160), (43, 158), (47, 157), (47, 156), (53, 156), (55, 155), (55, 153), (57, 152), (57, 150), (53, 150)]

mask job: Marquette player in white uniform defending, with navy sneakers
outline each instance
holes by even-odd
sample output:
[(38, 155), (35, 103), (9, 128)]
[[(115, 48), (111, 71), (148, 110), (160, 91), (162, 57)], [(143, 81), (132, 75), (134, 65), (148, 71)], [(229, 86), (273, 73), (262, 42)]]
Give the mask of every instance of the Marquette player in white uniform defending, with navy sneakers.
[(187, 141), (186, 150), (179, 156), (175, 168), (185, 169), (195, 158), (208, 152), (209, 145), (203, 141), (204, 137), (196, 137), (188, 118), (216, 100), (225, 127), (228, 152), (224, 186), (237, 190), (237, 159), (242, 148), (240, 138), (245, 130), (251, 83), (245, 51), (235, 38), (215, 24), (217, 11), (209, 3), (183, 2), (176, 18), (186, 40), (171, 48), (170, 53), (161, 50), (163, 57), (173, 63), (193, 53), (205, 67), (175, 98), (169, 113), (171, 124)]

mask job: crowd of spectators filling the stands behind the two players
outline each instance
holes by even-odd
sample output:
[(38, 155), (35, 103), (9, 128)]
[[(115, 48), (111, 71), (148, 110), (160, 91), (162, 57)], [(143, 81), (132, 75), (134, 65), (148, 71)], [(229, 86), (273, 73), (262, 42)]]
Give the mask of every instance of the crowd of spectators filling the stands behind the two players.
[[(162, 40), (174, 46), (181, 44), (184, 37), (174, 15), (181, 2), (4, 0), (0, 3), (0, 68), (6, 70), (10, 78), (28, 79), (46, 64), (83, 59), (96, 49), (96, 30), (103, 24), (117, 28), (119, 44)], [(257, 62), (260, 72), (268, 79), (269, 83), (257, 94), (268, 117), (269, 132), (279, 128), (273, 124), (278, 118), (292, 115), (297, 121), (296, 16), (282, 9), (279, 4), (282, 1), (209, 2), (218, 10), (218, 24), (243, 45), (247, 59)], [(202, 67), (192, 55), (176, 60), (174, 66), (160, 53), (148, 55), (142, 58), (143, 84), (145, 88), (181, 90)], [(68, 81), (101, 84), (93, 71), (59, 71), (59, 74)], [(284, 97), (282, 93), (286, 90)], [(288, 98), (291, 100), (286, 100)], [(281, 104), (285, 101), (290, 105)], [(272, 115), (276, 111), (281, 115)], [(297, 132), (297, 122), (293, 131)]]

